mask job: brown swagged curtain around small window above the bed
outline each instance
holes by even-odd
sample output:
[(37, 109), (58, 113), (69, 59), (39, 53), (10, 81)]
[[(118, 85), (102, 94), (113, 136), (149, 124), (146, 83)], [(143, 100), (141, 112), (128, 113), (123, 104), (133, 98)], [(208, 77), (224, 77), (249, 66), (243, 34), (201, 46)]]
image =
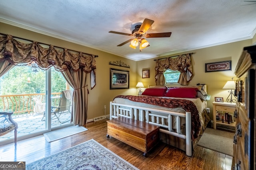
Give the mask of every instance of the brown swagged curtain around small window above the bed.
[(188, 53), (176, 58), (167, 57), (165, 59), (156, 60), (155, 81), (157, 86), (165, 84), (164, 72), (167, 69), (174, 71), (178, 70), (180, 72), (178, 83), (181, 85), (188, 85), (193, 76), (191, 54)]

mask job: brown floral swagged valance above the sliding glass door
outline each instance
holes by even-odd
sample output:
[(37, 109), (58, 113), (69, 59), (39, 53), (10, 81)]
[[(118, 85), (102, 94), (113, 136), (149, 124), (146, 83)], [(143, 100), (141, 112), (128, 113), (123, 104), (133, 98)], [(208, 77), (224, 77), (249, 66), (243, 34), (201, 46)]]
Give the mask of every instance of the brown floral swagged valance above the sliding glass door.
[(72, 70), (74, 72), (80, 69), (86, 73), (91, 72), (91, 78), (95, 86), (95, 55), (89, 55), (82, 52), (76, 53), (66, 48), (60, 50), (53, 45), (42, 47), (38, 42), (22, 43), (12, 37), (12, 35), (0, 36), (0, 62), (9, 61), (14, 65), (28, 65), (32, 61), (36, 62), (42, 70), (47, 70), (51, 66), (58, 71)]

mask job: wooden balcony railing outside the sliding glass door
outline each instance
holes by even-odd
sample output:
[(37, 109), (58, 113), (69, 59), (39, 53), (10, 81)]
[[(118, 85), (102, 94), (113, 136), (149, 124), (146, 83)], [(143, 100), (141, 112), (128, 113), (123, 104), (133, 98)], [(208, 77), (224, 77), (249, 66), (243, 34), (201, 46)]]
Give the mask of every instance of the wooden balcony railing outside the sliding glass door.
[[(52, 93), (52, 97), (60, 96), (60, 92)], [(39, 98), (42, 103), (45, 103), (45, 93), (37, 94), (12, 94), (0, 95), (0, 110), (13, 111), (14, 115), (33, 113), (35, 102), (34, 97)], [(52, 98), (52, 105), (56, 106), (60, 98)]]

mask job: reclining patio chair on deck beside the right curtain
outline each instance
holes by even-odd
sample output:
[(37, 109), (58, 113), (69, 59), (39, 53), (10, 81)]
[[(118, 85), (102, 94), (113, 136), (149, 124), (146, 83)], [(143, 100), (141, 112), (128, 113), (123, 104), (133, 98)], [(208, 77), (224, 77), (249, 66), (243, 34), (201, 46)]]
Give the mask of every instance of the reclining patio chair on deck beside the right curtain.
[(58, 121), (60, 123), (66, 123), (70, 120), (61, 122), (60, 121), (60, 116), (63, 113), (70, 112), (70, 106), (72, 105), (72, 96), (73, 96), (73, 90), (64, 90), (60, 93), (60, 102), (57, 107), (52, 106), (52, 113), (57, 117)]

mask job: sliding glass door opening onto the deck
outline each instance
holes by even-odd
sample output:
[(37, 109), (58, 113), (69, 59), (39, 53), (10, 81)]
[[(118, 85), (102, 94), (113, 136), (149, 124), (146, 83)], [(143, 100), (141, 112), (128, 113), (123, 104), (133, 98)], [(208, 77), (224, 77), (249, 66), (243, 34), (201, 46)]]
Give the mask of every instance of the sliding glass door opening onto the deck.
[[(36, 63), (15, 66), (0, 78), (0, 109), (14, 113), (18, 140), (72, 125), (72, 94), (61, 72), (53, 67), (41, 70)], [(0, 137), (0, 143), (13, 138), (14, 133), (8, 133)]]

